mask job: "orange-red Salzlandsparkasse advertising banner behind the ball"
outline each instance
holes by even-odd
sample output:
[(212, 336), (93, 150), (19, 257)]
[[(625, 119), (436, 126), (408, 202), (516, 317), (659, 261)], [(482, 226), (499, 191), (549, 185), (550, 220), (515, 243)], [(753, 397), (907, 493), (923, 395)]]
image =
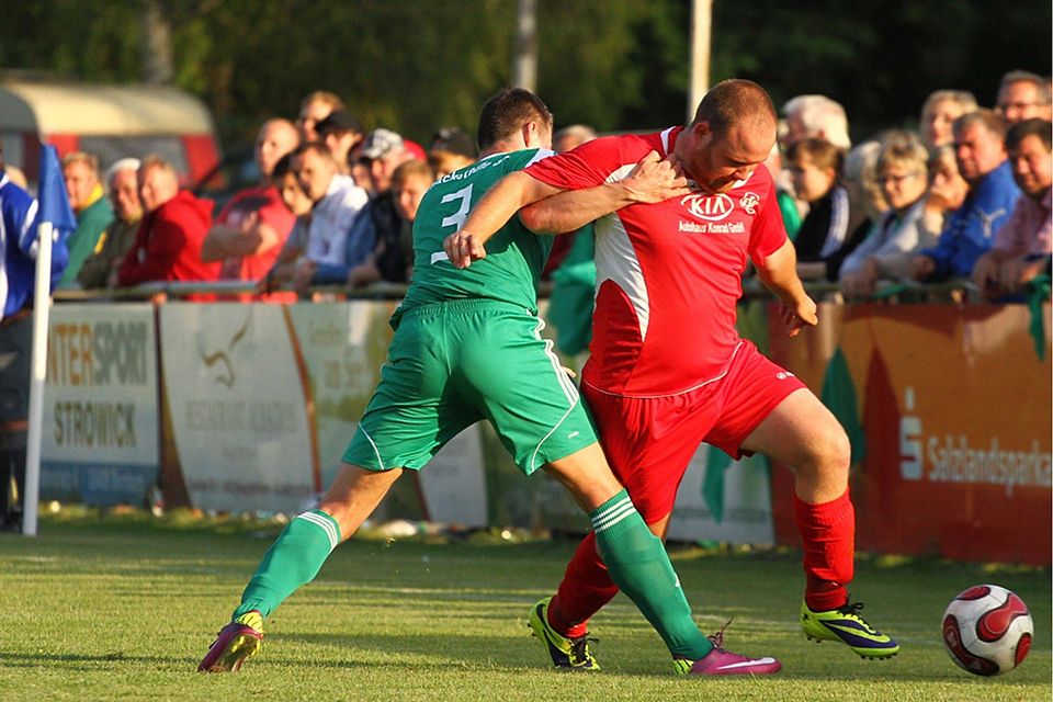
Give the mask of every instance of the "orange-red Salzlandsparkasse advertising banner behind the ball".
[[(1023, 305), (824, 305), (819, 316), (822, 335), (773, 335), (772, 354), (853, 439), (858, 547), (1049, 564), (1049, 305), (1044, 353)], [(777, 473), (775, 492), (789, 489)], [(780, 541), (794, 543), (778, 503)]]

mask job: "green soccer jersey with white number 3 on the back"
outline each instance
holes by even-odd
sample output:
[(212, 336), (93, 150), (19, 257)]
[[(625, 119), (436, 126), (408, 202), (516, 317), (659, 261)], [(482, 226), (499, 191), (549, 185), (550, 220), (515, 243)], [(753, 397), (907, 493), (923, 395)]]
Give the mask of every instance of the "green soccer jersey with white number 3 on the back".
[[(552, 249), (551, 236), (539, 236), (512, 217), (486, 242), (486, 258), (466, 269), (446, 259), (442, 242), (498, 180), (548, 156), (524, 149), (488, 156), (444, 176), (424, 194), (414, 220), (414, 281), (399, 313), (451, 299), (487, 298), (537, 312), (537, 282)], [(396, 314), (396, 319), (400, 314)]]

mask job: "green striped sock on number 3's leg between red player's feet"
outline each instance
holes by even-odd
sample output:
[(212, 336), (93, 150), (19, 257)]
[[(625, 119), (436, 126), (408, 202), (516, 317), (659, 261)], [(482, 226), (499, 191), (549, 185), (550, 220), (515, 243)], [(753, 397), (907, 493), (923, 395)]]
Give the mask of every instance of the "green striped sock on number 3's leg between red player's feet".
[(589, 518), (611, 579), (658, 631), (669, 653), (690, 660), (710, 653), (713, 644), (691, 618), (691, 607), (661, 540), (647, 529), (625, 490)]

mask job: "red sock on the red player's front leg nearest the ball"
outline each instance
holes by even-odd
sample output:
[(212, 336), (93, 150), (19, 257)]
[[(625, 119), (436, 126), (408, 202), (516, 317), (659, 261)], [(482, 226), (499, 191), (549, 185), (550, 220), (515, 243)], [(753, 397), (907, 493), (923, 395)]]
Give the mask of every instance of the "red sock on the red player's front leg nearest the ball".
[(804, 601), (817, 612), (843, 607), (856, 556), (856, 509), (848, 490), (820, 505), (808, 505), (794, 495), (793, 506), (804, 545)]

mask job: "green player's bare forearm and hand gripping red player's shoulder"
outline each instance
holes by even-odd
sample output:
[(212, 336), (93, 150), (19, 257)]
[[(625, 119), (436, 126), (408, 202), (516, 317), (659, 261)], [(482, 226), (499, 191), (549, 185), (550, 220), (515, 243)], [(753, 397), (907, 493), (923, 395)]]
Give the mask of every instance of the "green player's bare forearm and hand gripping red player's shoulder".
[(650, 151), (620, 181), (545, 197), (519, 213), (523, 225), (537, 234), (564, 234), (603, 215), (637, 203), (663, 202), (691, 190), (676, 157)]

